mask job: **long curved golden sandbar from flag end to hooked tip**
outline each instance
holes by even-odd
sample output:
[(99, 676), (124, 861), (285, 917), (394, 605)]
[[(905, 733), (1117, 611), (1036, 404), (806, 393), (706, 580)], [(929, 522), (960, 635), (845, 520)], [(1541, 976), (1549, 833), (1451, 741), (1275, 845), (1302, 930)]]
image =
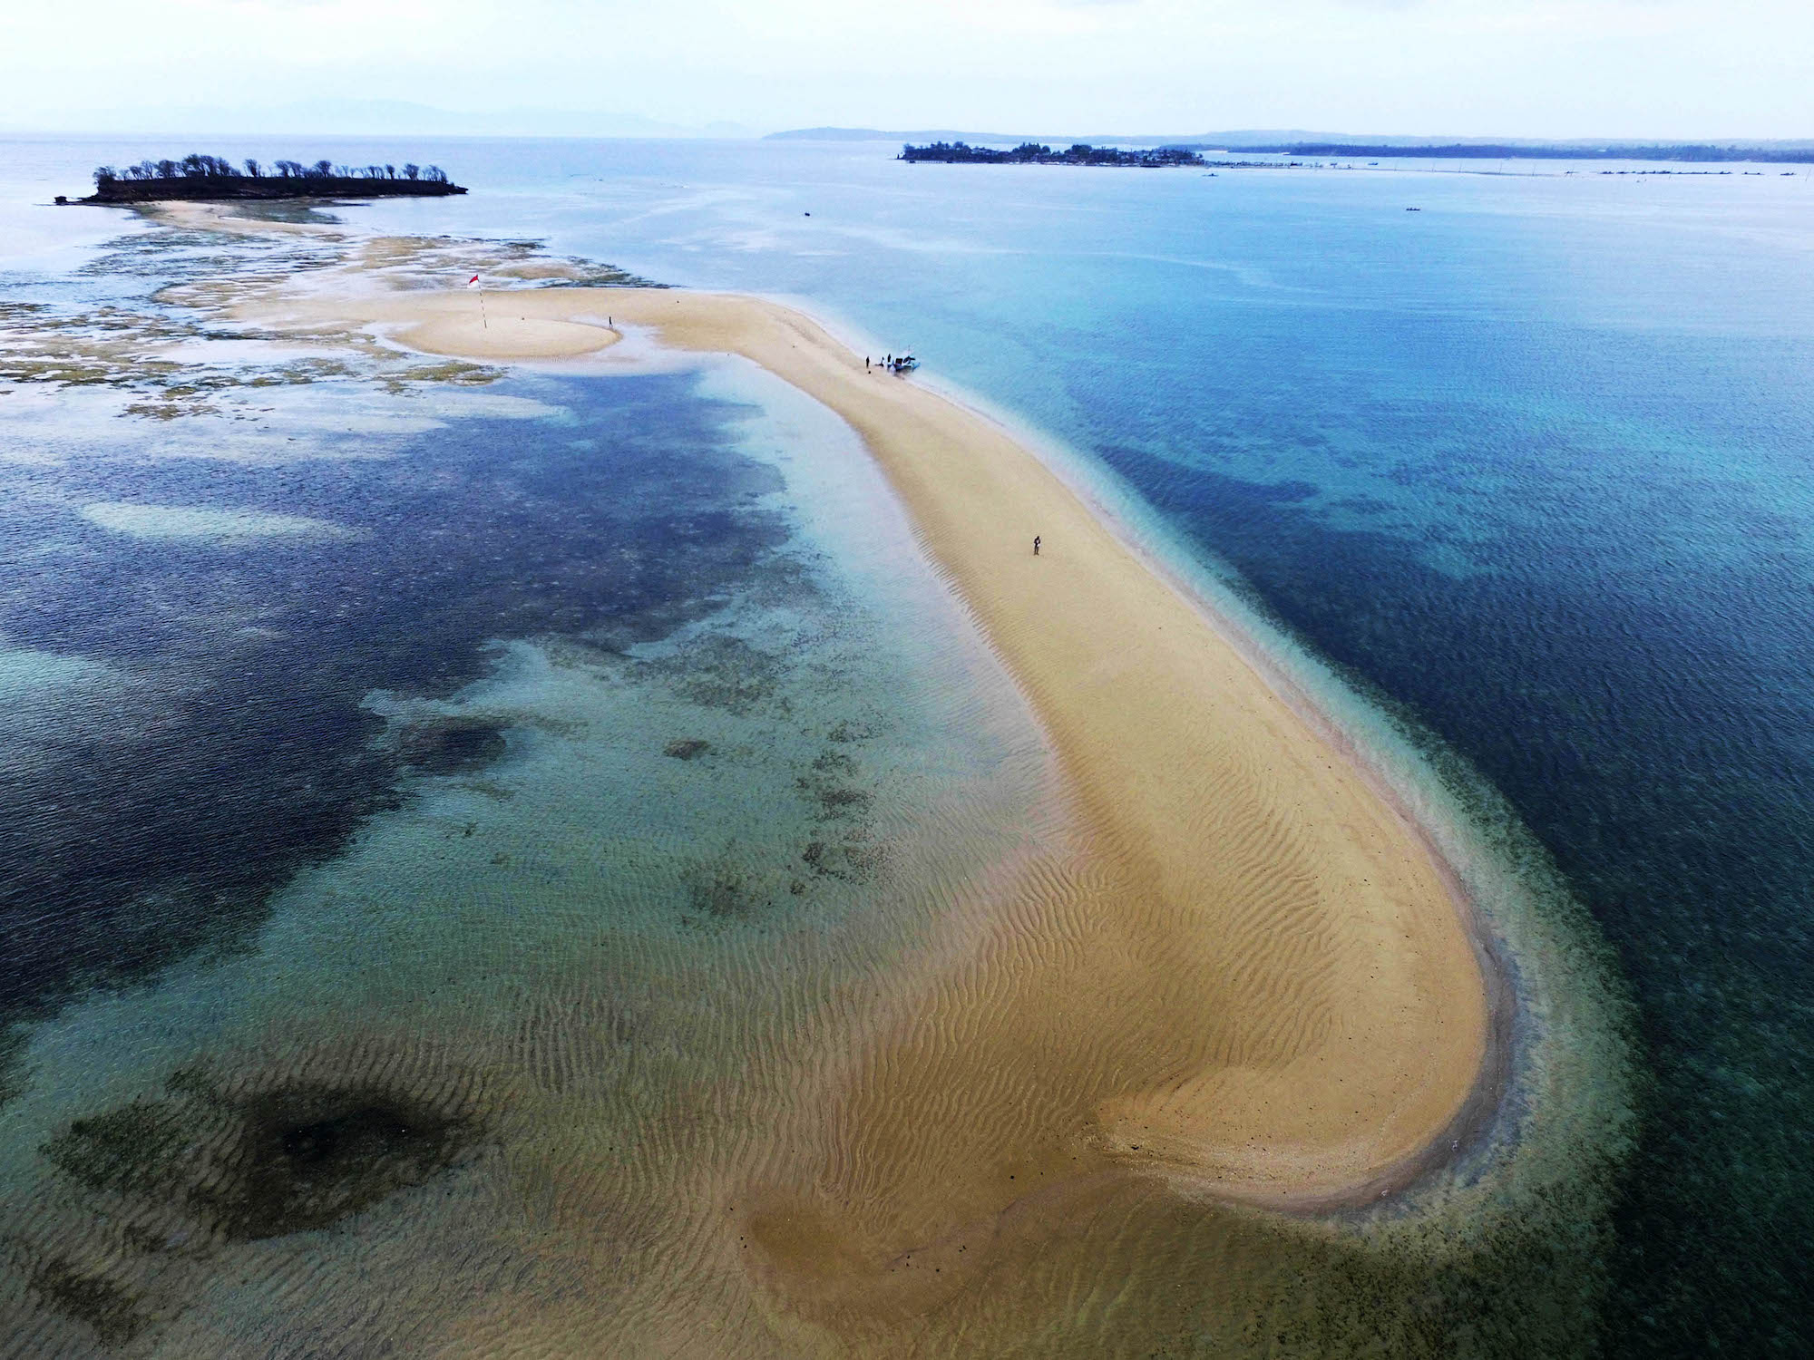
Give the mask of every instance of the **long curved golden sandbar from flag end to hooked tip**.
[(882, 1175), (923, 1211), (894, 1206), (858, 1231), (802, 1226), (829, 1209), (793, 1200), (753, 1224), (778, 1266), (880, 1269), (889, 1240), (1128, 1166), (1268, 1206), (1377, 1199), (1491, 1099), (1493, 979), (1417, 827), (994, 423), (865, 372), (813, 319), (756, 297), (522, 290), (481, 323), (470, 294), (370, 283), (241, 314), (479, 361), (599, 350), (611, 317), (664, 346), (744, 355), (829, 406), (1054, 743), (1078, 852), (1021, 876), (978, 956), (836, 1097), (858, 1112), (862, 1161), (894, 1168)]

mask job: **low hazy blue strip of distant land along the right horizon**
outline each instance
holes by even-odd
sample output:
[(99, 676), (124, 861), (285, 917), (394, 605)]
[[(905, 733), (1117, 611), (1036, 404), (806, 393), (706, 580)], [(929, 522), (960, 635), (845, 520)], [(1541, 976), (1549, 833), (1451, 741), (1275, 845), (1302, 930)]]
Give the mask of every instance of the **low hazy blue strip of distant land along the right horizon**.
[(970, 145), (1018, 147), (1043, 141), (1063, 147), (1087, 141), (1096, 147), (1186, 147), (1190, 151), (1286, 152), (1295, 156), (1455, 156), (1455, 158), (1622, 158), (1622, 160), (1776, 160), (1814, 158), (1814, 140), (1758, 141), (1658, 141), (1636, 138), (1419, 138), (1353, 132), (1308, 132), (1302, 129), (1244, 129), (1235, 132), (1188, 132), (1177, 136), (1121, 136), (1112, 132), (960, 132), (954, 129), (882, 131), (874, 127), (802, 127), (771, 132), (771, 141), (969, 141)]

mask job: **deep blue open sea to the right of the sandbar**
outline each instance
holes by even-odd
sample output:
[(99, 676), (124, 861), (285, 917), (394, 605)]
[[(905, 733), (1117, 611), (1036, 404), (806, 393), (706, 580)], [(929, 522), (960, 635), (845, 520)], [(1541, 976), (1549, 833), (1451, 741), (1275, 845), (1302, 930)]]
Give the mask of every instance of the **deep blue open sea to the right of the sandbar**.
[[(42, 143), (15, 165), (65, 192), (151, 151)], [(1478, 769), (1638, 1003), (1643, 1133), (1600, 1345), (1801, 1353), (1809, 176), (907, 167), (800, 143), (405, 154), (472, 196), (348, 221), (796, 297), (912, 348)], [(22, 194), (53, 192), (29, 180), (15, 170)], [(0, 209), (15, 219), (27, 272), (89, 230)]]

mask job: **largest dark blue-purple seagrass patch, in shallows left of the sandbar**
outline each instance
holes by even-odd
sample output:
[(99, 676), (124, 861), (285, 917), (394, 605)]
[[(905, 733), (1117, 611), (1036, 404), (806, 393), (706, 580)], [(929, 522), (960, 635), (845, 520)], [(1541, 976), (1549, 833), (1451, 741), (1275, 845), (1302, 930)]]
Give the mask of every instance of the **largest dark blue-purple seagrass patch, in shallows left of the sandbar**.
[[(695, 379), (512, 379), (561, 421), (457, 421), (388, 459), (230, 462), (71, 457), (0, 504), (20, 569), (0, 580), (11, 646), (85, 656), (118, 691), (0, 751), (0, 1017), (236, 948), (272, 889), (401, 800), (399, 772), (470, 769), (495, 731), (403, 749), (363, 700), (446, 696), (488, 644), (653, 642), (776, 575), (778, 473), (735, 444), (740, 410)], [(579, 433), (584, 437), (579, 437)], [(91, 528), (87, 500), (307, 515), (354, 542), (219, 553)], [(715, 642), (698, 696), (773, 698), (773, 658)], [(693, 664), (693, 658), (688, 658)]]

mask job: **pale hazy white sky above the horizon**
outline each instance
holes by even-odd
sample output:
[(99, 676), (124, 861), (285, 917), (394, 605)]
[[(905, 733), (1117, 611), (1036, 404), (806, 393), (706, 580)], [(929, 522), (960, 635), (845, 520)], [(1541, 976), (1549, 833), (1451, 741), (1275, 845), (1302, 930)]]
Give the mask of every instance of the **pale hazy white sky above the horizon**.
[(0, 9), (0, 127), (93, 109), (390, 98), (760, 131), (1814, 136), (1814, 0), (5, 0)]

